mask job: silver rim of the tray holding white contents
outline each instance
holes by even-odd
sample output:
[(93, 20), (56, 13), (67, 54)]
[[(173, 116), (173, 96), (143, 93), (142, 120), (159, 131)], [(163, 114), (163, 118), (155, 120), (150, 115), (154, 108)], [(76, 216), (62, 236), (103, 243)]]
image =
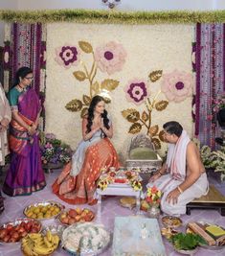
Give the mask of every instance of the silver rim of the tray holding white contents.
[[(109, 232), (106, 228), (104, 228), (104, 230), (108, 233), (109, 235), (109, 240), (106, 244), (104, 244), (104, 246), (102, 246), (101, 248), (99, 248), (98, 250), (91, 250), (91, 249), (80, 249), (79, 251), (73, 251), (71, 250), (70, 248), (66, 248), (63, 244), (64, 244), (64, 240), (65, 238), (63, 238), (63, 236), (66, 235), (66, 232), (68, 232), (69, 229), (71, 228), (76, 228), (76, 226), (79, 226), (79, 225), (82, 225), (82, 224), (86, 224), (86, 223), (90, 223), (92, 224), (93, 226), (98, 226), (100, 224), (98, 223), (91, 223), (91, 222), (82, 222), (82, 223), (76, 223), (76, 224), (73, 224), (73, 225), (70, 225), (69, 227), (67, 227), (64, 231), (63, 231), (63, 234), (62, 234), (62, 239), (61, 239), (61, 244), (62, 244), (62, 248), (64, 250), (66, 250), (67, 252), (69, 252), (71, 255), (75, 255), (75, 256), (97, 256), (97, 255), (101, 255), (102, 252), (104, 252), (108, 247), (109, 245), (111, 244), (111, 241), (112, 241), (112, 234), (111, 232)], [(101, 225), (102, 226), (102, 225)]]

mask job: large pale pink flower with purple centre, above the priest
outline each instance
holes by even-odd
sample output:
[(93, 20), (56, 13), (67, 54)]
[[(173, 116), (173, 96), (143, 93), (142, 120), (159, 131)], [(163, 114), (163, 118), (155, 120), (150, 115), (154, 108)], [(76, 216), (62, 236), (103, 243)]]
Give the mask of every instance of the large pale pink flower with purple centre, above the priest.
[(192, 95), (192, 83), (191, 74), (174, 70), (163, 75), (161, 90), (170, 102), (180, 103)]

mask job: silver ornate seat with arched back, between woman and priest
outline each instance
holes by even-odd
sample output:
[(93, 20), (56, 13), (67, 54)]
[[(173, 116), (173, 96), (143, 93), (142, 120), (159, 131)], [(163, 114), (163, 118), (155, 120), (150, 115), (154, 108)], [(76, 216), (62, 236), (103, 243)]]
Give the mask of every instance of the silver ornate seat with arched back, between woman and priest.
[(139, 168), (141, 173), (152, 174), (160, 169), (162, 159), (150, 138), (140, 133), (131, 139), (125, 164), (127, 169)]

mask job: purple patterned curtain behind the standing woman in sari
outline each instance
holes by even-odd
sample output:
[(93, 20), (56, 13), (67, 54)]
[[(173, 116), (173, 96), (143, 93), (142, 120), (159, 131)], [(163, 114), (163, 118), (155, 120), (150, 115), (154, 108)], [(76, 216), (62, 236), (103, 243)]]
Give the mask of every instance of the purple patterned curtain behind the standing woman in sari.
[[(31, 67), (34, 70), (33, 86), (42, 106), (45, 99), (46, 81), (46, 27), (37, 24), (7, 24), (5, 27), (4, 88), (8, 91), (18, 68)], [(44, 129), (43, 108), (40, 127)]]

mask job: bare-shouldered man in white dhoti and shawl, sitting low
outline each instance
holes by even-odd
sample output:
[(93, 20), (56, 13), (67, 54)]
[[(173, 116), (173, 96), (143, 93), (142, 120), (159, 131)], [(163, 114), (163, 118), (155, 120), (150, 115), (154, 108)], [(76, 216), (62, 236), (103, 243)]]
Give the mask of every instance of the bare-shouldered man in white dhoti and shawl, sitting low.
[(206, 195), (209, 182), (196, 145), (182, 126), (171, 121), (164, 126), (169, 143), (167, 161), (149, 179), (147, 187), (156, 186), (163, 192), (161, 210), (179, 216), (186, 213), (186, 205), (193, 198)]

